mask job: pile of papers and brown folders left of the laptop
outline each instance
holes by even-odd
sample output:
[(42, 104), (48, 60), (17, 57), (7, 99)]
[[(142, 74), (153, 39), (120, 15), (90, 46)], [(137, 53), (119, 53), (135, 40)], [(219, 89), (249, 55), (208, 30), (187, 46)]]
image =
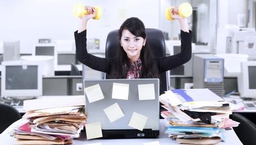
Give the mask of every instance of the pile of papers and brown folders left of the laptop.
[(68, 144), (85, 125), (83, 96), (24, 101), (27, 112), (13, 130), (16, 144)]

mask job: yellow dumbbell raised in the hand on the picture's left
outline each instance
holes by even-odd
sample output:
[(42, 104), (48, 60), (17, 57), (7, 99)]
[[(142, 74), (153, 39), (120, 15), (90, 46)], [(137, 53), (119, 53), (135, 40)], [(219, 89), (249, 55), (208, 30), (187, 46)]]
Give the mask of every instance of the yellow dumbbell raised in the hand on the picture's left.
[[(102, 10), (99, 6), (94, 6), (96, 9), (96, 16), (93, 19), (100, 19), (102, 15)], [(88, 14), (87, 11), (85, 10), (85, 6), (83, 6), (82, 3), (76, 3), (73, 7), (73, 15), (76, 17), (83, 17), (83, 15)]]

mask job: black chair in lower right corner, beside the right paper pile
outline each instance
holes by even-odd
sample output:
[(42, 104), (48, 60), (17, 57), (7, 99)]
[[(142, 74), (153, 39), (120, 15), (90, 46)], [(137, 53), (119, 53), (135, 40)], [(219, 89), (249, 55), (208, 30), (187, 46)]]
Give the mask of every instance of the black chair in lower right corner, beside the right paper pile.
[(256, 143), (256, 125), (239, 113), (233, 113), (232, 120), (240, 122), (238, 127), (234, 127), (234, 131), (243, 144)]

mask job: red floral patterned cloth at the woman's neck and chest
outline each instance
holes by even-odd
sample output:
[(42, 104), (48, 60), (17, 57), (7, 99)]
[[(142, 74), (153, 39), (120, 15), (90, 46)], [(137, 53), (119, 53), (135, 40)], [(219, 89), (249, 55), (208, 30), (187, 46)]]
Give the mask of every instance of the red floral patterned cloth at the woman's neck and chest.
[(135, 63), (131, 63), (130, 69), (127, 71), (126, 79), (140, 79), (142, 74), (142, 61), (139, 59)]

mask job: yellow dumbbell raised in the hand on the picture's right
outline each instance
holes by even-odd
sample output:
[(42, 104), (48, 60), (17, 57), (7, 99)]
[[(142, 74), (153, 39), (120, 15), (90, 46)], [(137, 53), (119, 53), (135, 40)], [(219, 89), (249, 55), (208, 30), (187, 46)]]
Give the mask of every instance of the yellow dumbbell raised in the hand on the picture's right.
[[(173, 18), (171, 18), (171, 9), (173, 9), (173, 8), (174, 7), (169, 7), (168, 9), (166, 9), (166, 11), (165, 11), (166, 19), (173, 20)], [(189, 3), (182, 3), (178, 7), (178, 11), (179, 11), (180, 17), (186, 18), (192, 14), (192, 7)]]

